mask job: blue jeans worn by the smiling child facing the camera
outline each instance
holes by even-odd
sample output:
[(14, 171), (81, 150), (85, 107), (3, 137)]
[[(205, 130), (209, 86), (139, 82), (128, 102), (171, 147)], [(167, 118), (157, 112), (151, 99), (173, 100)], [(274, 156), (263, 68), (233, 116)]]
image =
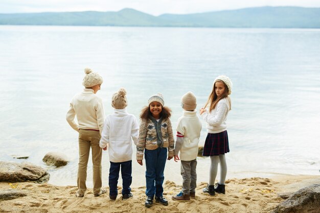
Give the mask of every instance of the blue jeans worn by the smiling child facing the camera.
[(167, 160), (167, 148), (157, 148), (156, 150), (145, 149), (146, 159), (146, 195), (148, 197), (163, 196), (162, 186), (165, 176), (164, 170)]

